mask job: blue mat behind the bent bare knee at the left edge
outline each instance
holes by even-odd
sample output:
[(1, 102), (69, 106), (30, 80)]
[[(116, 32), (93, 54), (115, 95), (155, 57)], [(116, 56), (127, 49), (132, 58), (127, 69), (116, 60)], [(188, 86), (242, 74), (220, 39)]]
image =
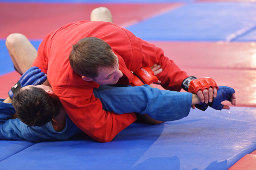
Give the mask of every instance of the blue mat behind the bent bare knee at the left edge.
[[(38, 49), (42, 40), (30, 40), (33, 46)], [(5, 40), (0, 39), (0, 75), (15, 71), (12, 60), (5, 46)]]

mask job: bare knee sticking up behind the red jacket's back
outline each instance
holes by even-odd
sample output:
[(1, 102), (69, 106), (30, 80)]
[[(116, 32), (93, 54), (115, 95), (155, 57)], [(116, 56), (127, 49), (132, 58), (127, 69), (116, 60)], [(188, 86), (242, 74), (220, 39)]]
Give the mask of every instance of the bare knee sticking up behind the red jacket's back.
[(113, 23), (112, 14), (108, 8), (99, 7), (91, 12), (91, 21), (105, 21)]

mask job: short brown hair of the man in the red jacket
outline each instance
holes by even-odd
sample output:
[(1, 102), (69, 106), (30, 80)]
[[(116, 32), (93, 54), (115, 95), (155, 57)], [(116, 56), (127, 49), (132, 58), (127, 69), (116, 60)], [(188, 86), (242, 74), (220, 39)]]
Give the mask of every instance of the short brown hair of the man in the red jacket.
[(102, 68), (114, 68), (117, 59), (112, 48), (105, 41), (96, 37), (86, 37), (72, 45), (69, 63), (80, 75), (96, 78)]

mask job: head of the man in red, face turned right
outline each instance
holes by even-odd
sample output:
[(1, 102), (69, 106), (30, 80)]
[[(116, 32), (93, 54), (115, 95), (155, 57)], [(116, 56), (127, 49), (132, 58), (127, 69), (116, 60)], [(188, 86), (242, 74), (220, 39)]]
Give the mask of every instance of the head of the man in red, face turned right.
[(83, 80), (101, 85), (116, 84), (123, 76), (112, 48), (96, 37), (86, 37), (73, 45), (69, 63)]

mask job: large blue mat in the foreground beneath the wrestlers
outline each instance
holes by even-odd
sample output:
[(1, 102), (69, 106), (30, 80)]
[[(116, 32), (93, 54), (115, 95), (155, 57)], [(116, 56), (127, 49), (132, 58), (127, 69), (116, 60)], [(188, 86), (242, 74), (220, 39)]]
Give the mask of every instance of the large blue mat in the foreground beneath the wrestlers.
[(226, 170), (256, 149), (255, 126), (256, 108), (191, 110), (173, 122), (133, 123), (109, 143), (40, 142), (1, 161), (0, 169)]

